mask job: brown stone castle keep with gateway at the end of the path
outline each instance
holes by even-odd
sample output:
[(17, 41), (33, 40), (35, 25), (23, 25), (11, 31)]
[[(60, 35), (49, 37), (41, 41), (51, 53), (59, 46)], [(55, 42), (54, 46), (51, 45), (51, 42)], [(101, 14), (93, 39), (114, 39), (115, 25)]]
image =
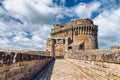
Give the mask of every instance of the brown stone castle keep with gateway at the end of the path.
[(97, 32), (98, 26), (88, 18), (57, 24), (51, 30), (46, 48), (54, 56), (63, 56), (69, 51), (98, 49)]

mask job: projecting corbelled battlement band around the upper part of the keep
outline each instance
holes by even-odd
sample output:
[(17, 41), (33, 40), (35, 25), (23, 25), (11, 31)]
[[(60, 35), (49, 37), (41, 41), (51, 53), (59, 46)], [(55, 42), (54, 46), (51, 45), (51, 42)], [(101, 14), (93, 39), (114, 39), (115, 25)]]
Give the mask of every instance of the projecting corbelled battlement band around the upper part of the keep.
[[(92, 25), (92, 24), (90, 24), (90, 25), (80, 25), (80, 24), (77, 24), (77, 25), (74, 25), (74, 26), (71, 26), (71, 27), (64, 26), (64, 27), (58, 27), (58, 28), (52, 29), (51, 30), (51, 35), (55, 35), (55, 34), (70, 31), (70, 30), (77, 30), (77, 29), (78, 29), (79, 34), (86, 34), (86, 35), (92, 35), (92, 34), (95, 34), (98, 31), (97, 25)], [(94, 32), (94, 33), (92, 33), (92, 32)]]

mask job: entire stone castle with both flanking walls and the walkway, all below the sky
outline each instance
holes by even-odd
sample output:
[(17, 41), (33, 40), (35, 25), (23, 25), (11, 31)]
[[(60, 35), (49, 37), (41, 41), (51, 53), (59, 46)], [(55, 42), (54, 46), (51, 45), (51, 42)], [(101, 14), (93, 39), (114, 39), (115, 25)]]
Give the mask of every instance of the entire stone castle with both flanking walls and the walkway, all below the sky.
[(80, 19), (57, 24), (47, 51), (0, 49), (0, 80), (120, 80), (120, 49), (97, 49), (97, 32)]

